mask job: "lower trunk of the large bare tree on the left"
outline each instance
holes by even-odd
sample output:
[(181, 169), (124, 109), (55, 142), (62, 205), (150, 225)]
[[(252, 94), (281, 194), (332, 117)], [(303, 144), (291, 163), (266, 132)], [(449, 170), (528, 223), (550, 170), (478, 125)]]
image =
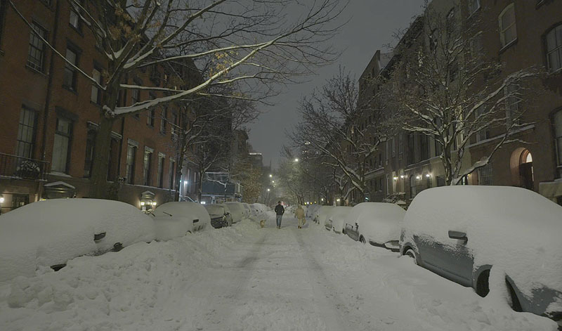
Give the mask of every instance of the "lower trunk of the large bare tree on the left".
[(96, 134), (95, 158), (90, 179), (90, 197), (107, 199), (107, 169), (110, 162), (111, 131), (115, 118), (102, 116)]

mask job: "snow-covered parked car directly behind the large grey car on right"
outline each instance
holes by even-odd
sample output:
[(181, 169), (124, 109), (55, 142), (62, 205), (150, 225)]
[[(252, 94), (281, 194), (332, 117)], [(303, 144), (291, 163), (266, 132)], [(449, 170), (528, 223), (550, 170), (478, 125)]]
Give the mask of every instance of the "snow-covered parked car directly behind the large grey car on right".
[(346, 234), (353, 240), (398, 252), (405, 214), (406, 211), (396, 204), (362, 202), (346, 216)]

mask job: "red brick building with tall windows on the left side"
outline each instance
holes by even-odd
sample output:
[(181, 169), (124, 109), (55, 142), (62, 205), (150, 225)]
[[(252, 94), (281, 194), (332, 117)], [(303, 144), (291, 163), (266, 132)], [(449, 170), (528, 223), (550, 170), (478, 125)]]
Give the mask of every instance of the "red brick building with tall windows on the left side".
[[(16, 6), (56, 51), (98, 82), (103, 79), (107, 63), (68, 1), (22, 0)], [(153, 66), (138, 70), (127, 83), (164, 87), (174, 74), (181, 73)], [(101, 93), (56, 56), (7, 1), (0, 1), (1, 212), (41, 198), (89, 195)], [(159, 93), (124, 90), (119, 105)], [(174, 129), (181, 121), (190, 121), (190, 110), (171, 104), (115, 123), (107, 174), (114, 197), (138, 207), (161, 204), (173, 197), (180, 180), (185, 183), (181, 196), (195, 195), (194, 164), (184, 162), (183, 178), (176, 175)]]

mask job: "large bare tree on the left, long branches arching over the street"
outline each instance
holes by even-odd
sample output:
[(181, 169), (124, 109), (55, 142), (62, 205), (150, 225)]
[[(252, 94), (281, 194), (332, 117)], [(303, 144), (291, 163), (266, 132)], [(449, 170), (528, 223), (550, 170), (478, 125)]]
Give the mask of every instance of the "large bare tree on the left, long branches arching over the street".
[[(32, 29), (18, 6), (11, 8)], [(67, 0), (74, 13), (96, 38), (107, 69), (103, 80), (92, 77), (36, 32), (67, 66), (103, 92), (96, 136), (96, 162), (91, 176), (91, 196), (107, 195), (110, 134), (120, 117), (166, 103), (208, 96), (211, 86), (236, 85), (230, 98), (262, 99), (275, 84), (311, 72), (336, 54), (327, 41), (337, 30), (332, 21), (345, 7), (337, 0)], [(303, 15), (287, 15), (285, 8), (299, 6)], [(163, 87), (129, 84), (138, 70), (185, 61), (214, 63), (214, 70), (195, 82)], [(158, 97), (119, 106), (119, 92), (127, 89), (155, 91)]]

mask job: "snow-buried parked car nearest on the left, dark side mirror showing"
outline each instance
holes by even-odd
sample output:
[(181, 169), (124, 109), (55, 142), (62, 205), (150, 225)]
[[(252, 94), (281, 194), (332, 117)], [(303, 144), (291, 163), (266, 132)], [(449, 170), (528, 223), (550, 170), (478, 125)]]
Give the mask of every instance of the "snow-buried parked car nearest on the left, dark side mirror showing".
[(0, 281), (58, 270), (81, 255), (118, 251), (155, 238), (155, 223), (124, 202), (53, 199), (0, 216)]

